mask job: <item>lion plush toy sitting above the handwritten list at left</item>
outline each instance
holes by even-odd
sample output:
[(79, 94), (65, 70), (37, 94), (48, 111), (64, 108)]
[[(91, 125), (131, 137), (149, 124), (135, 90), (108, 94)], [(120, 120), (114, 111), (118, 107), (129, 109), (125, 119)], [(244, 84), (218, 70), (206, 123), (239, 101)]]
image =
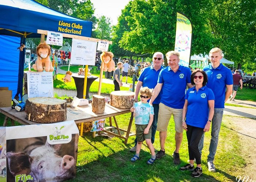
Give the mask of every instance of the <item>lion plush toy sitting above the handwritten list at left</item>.
[(50, 46), (46, 43), (40, 43), (37, 46), (37, 60), (35, 64), (33, 64), (34, 70), (43, 71), (43, 69), (47, 72), (52, 72), (54, 70), (52, 66), (52, 62), (50, 60)]

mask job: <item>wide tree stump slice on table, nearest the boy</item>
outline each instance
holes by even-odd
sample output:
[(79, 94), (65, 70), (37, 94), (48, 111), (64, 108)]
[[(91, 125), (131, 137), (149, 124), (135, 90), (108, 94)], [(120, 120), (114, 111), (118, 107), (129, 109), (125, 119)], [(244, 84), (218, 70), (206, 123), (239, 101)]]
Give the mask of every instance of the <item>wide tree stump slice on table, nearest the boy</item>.
[(128, 109), (133, 106), (134, 92), (113, 91), (110, 93), (110, 105), (118, 108)]

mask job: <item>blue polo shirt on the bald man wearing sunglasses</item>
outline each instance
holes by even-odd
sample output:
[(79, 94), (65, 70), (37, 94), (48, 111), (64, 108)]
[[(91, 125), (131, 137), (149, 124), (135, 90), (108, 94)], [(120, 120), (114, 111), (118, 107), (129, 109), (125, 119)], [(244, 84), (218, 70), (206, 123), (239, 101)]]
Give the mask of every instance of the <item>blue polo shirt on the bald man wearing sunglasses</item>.
[[(139, 81), (143, 82), (142, 86), (148, 87), (148, 88), (155, 88), (155, 86), (157, 85), (159, 73), (162, 69), (163, 69), (163, 67), (161, 66), (161, 68), (156, 71), (153, 68), (153, 65), (150, 67), (144, 68), (139, 77)], [(161, 95), (162, 95), (162, 90), (158, 94), (157, 98), (155, 98), (153, 104), (160, 103)], [(149, 102), (149, 100), (148, 100), (148, 102)]]

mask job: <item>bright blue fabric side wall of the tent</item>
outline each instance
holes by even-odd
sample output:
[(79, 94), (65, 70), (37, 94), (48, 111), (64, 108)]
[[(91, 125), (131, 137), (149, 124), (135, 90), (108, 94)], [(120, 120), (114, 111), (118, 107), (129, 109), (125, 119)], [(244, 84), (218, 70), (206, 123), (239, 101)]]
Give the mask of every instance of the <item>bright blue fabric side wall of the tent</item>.
[(17, 93), (19, 74), (19, 54), (17, 47), (20, 45), (20, 37), (0, 35), (0, 45), (8, 49), (0, 49), (0, 87), (9, 87), (12, 90), (12, 98)]

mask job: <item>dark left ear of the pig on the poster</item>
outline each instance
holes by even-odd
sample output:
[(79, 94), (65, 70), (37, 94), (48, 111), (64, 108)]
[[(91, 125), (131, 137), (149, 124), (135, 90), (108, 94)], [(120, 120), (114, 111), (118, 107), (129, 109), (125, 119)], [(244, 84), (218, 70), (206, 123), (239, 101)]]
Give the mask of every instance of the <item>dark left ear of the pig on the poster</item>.
[(7, 152), (8, 165), (10, 172), (15, 176), (17, 174), (29, 175), (31, 172), (31, 163), (33, 159), (24, 152)]

